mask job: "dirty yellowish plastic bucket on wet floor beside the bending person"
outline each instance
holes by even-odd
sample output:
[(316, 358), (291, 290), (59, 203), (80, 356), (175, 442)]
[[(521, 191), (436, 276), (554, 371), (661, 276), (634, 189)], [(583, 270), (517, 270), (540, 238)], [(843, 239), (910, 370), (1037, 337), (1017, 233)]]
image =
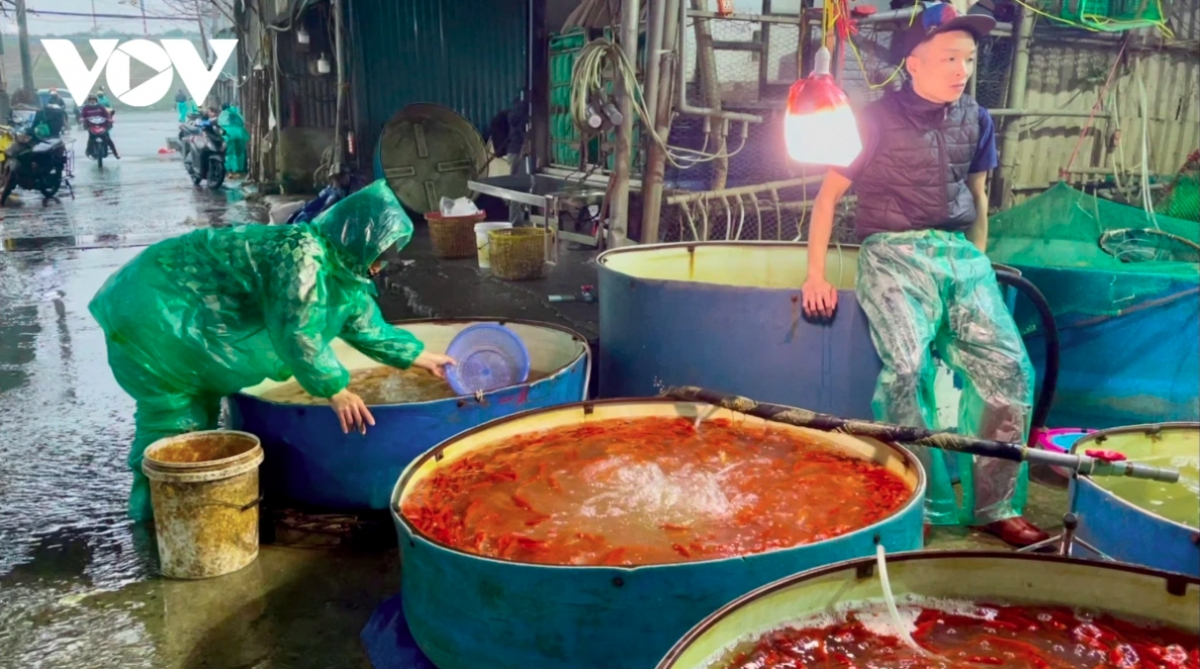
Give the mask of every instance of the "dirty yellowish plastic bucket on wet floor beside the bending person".
[(145, 451), (158, 561), (170, 578), (211, 578), (258, 558), (258, 465), (263, 447), (245, 432), (160, 439)]

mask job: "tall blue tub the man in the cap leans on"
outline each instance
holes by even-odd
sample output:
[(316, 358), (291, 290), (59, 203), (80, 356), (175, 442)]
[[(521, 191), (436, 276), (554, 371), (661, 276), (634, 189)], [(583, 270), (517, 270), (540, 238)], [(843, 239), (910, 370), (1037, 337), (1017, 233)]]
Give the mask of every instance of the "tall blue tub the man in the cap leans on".
[(600, 255), (600, 396), (695, 385), (871, 418), (881, 362), (854, 296), (858, 247), (832, 247), (828, 323), (804, 317), (808, 247), (652, 245)]

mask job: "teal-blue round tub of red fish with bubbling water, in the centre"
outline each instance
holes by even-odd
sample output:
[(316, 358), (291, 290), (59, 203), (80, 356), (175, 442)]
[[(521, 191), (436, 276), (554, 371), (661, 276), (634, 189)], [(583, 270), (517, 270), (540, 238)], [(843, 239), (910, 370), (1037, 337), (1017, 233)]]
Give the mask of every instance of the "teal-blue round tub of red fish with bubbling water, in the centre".
[[(646, 669), (706, 615), (739, 593), (786, 574), (922, 546), (924, 472), (904, 448), (845, 434), (778, 426), (830, 448), (884, 464), (912, 486), (888, 519), (833, 540), (745, 558), (646, 567), (559, 567), (480, 558), (446, 548), (398, 513), (412, 487), (464, 453), (544, 429), (622, 417), (695, 417), (707, 405), (666, 399), (612, 400), (528, 411), (494, 421), (414, 460), (392, 499), (404, 617), (440, 669)], [(716, 417), (733, 417), (719, 411)], [(750, 424), (757, 418), (738, 416)]]

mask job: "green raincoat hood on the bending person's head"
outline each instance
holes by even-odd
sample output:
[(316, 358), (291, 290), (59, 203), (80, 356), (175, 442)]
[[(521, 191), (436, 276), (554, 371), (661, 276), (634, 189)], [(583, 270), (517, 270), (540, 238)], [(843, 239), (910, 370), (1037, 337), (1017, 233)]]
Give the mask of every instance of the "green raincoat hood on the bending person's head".
[(312, 224), (361, 271), (392, 245), (400, 251), (413, 239), (413, 221), (382, 179), (329, 207)]

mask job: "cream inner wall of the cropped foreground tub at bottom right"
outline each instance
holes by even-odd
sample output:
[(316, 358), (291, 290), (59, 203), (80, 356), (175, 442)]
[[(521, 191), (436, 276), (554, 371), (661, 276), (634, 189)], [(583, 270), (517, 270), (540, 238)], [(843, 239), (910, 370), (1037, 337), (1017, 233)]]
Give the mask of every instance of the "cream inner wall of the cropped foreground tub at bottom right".
[[(1200, 633), (1200, 580), (1140, 567), (1013, 553), (910, 553), (888, 558), (888, 577), (898, 597), (1081, 607)], [(709, 615), (658, 669), (712, 669), (710, 658), (737, 641), (882, 597), (872, 559), (796, 574)]]

